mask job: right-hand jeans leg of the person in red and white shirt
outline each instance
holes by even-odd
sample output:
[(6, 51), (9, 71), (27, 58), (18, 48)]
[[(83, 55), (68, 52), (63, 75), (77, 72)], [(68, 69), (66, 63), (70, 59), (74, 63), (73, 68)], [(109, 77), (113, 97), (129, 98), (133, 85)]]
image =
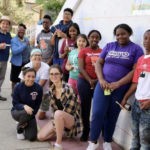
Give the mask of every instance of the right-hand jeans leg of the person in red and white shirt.
[(140, 113), (140, 150), (150, 150), (150, 108)]

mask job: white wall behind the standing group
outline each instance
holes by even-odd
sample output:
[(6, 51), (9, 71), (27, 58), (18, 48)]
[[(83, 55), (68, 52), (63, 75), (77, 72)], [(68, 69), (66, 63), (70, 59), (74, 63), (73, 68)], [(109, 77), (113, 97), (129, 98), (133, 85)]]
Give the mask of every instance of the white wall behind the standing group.
[[(92, 29), (97, 29), (102, 34), (100, 47), (110, 41), (114, 41), (113, 29), (120, 23), (127, 23), (133, 29), (131, 39), (142, 45), (143, 33), (150, 29), (150, 15), (133, 15), (132, 8), (135, 0), (66, 0), (65, 5), (58, 16), (58, 20), (62, 17), (63, 9), (70, 7), (75, 12), (73, 21), (80, 25), (82, 33), (88, 34)], [(133, 101), (133, 97), (131, 100)], [(121, 112), (116, 130), (114, 133), (115, 141), (129, 149), (131, 142), (131, 117), (129, 112)]]

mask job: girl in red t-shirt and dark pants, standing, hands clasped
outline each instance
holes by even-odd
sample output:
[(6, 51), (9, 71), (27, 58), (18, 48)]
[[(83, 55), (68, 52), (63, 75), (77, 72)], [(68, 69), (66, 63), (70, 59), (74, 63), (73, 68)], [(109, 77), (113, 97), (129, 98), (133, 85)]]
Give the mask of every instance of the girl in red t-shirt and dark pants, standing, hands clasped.
[(80, 75), (77, 81), (78, 92), (81, 100), (81, 116), (83, 122), (83, 133), (81, 141), (87, 141), (90, 131), (90, 111), (93, 91), (97, 83), (95, 64), (102, 51), (99, 48), (101, 33), (91, 30), (88, 34), (89, 46), (82, 49), (78, 55)]

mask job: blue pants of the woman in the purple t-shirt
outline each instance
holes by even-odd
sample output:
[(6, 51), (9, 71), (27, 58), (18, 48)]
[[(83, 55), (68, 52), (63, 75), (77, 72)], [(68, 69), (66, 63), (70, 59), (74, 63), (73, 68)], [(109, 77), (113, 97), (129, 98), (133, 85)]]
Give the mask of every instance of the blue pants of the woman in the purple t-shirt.
[(122, 87), (114, 90), (111, 95), (105, 96), (104, 90), (101, 88), (100, 84), (97, 83), (92, 104), (90, 141), (97, 141), (102, 130), (104, 141), (112, 141), (115, 125), (120, 112), (120, 107), (115, 101), (120, 103), (127, 89), (127, 86)]

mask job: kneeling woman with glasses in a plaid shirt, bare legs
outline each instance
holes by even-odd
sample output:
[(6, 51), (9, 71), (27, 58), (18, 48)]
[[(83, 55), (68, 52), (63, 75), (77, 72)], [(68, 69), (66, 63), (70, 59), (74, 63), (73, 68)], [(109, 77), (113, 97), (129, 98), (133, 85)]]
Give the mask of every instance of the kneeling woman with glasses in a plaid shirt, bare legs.
[(76, 136), (82, 130), (80, 105), (73, 89), (62, 81), (62, 70), (58, 65), (50, 67), (50, 105), (54, 110), (54, 120), (49, 121), (38, 133), (44, 141), (56, 135), (54, 150), (62, 150), (63, 132)]

